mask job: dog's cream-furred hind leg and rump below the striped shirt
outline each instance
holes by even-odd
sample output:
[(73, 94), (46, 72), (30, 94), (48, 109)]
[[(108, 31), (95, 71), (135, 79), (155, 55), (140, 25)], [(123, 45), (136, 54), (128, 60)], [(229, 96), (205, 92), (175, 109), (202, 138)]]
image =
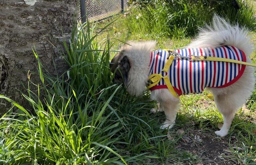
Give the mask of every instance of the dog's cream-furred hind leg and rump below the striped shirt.
[[(250, 59), (247, 59), (250, 61)], [(214, 101), (217, 108), (223, 115), (223, 127), (216, 131), (218, 136), (226, 136), (229, 131), (231, 122), (239, 107), (243, 106), (246, 100), (252, 94), (254, 88), (254, 68), (246, 67), (243, 75), (237, 82), (223, 88), (209, 88), (212, 90)]]

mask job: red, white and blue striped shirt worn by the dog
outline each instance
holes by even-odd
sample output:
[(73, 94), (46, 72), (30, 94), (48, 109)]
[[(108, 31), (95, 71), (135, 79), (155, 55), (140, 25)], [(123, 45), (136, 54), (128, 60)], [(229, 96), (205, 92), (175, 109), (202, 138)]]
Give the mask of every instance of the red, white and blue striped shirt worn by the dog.
[[(221, 57), (246, 62), (243, 51), (233, 46), (223, 46), (220, 48), (185, 48), (175, 52), (181, 56), (188, 57), (208, 56)], [(149, 76), (159, 74), (167, 61), (168, 51), (157, 50), (151, 52), (149, 64)], [(236, 82), (243, 74), (245, 65), (216, 62), (216, 61), (189, 61), (185, 58), (175, 58), (168, 70), (170, 82), (174, 90), (179, 94), (201, 93), (205, 87), (226, 87)], [(162, 76), (167, 73), (161, 72)], [(150, 90), (167, 88), (163, 79), (151, 87)]]

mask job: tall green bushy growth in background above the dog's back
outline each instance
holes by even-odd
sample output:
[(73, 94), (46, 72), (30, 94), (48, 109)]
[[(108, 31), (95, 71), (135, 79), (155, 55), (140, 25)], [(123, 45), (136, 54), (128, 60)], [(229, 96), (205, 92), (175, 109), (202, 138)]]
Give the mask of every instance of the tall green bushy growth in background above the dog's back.
[(181, 38), (194, 36), (198, 27), (209, 24), (214, 14), (218, 14), (240, 26), (255, 30), (256, 19), (253, 8), (245, 1), (238, 0), (236, 10), (232, 0), (136, 0), (130, 1), (126, 21), (130, 33), (141, 31), (145, 35)]

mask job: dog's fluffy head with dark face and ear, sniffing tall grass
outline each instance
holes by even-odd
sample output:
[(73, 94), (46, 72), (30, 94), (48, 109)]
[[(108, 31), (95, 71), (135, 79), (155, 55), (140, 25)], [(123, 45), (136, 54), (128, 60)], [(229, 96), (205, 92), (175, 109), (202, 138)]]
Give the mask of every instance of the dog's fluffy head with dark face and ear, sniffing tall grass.
[(150, 52), (155, 47), (154, 41), (130, 42), (122, 46), (110, 63), (110, 70), (115, 83), (122, 83), (130, 94), (140, 95), (147, 83)]

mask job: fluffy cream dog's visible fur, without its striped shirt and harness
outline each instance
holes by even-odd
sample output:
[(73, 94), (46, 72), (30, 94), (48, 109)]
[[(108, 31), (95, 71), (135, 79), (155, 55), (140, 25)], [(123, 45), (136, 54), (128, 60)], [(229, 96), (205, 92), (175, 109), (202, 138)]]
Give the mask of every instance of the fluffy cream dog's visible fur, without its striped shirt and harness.
[[(224, 19), (214, 16), (213, 25), (201, 28), (198, 37), (186, 48), (214, 49), (233, 46), (243, 51), (246, 62), (251, 63), (249, 55), (253, 51), (253, 44), (247, 33), (246, 29), (239, 28), (238, 25), (232, 26)], [(148, 84), (151, 50), (155, 48), (156, 43), (150, 41), (129, 42), (129, 44), (131, 46), (122, 46), (121, 52), (115, 55), (111, 61), (111, 71), (115, 72), (115, 82), (122, 82), (124, 79), (127, 91), (139, 96)], [(117, 68), (120, 72), (115, 71)], [(197, 72), (202, 72), (202, 70), (199, 68)], [(235, 112), (250, 97), (254, 84), (254, 68), (246, 66), (242, 76), (235, 83), (220, 88), (206, 86), (212, 92), (217, 108), (223, 115), (223, 127), (215, 132), (216, 135), (221, 137), (227, 135)], [(164, 111), (166, 115), (166, 120), (161, 128), (173, 127), (180, 99), (172, 95), (167, 88), (152, 90), (151, 98), (159, 102), (158, 110)], [(156, 112), (156, 108), (152, 108), (151, 112)]]

